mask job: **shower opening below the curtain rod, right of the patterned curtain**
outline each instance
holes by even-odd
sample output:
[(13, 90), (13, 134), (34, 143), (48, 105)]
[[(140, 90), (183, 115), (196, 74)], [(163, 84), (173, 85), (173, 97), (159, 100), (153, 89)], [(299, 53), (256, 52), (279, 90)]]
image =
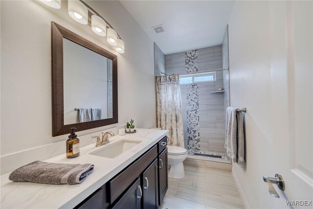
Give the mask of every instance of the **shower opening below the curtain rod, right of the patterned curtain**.
[(184, 144), (188, 157), (229, 162), (224, 154), (228, 71), (180, 75)]

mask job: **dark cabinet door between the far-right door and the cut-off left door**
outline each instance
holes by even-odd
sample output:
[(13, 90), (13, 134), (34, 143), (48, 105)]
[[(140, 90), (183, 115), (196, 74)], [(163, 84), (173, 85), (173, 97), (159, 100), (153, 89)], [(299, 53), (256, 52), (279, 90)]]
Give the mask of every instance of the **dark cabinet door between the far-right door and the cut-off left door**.
[(143, 208), (158, 208), (158, 165), (157, 159), (142, 174)]

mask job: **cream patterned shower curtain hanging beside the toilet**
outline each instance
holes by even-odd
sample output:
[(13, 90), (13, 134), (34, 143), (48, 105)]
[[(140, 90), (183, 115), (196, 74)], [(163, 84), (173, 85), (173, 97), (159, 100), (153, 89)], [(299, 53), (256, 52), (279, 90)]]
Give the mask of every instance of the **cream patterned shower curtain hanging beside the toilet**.
[(156, 77), (157, 126), (169, 130), (169, 143), (184, 147), (179, 75)]

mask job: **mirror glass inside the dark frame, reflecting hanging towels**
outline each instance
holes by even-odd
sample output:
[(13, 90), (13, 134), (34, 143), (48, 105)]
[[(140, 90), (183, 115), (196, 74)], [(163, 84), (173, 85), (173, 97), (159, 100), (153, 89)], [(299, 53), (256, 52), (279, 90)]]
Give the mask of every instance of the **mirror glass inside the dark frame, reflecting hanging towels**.
[(113, 117), (112, 60), (63, 38), (64, 125)]

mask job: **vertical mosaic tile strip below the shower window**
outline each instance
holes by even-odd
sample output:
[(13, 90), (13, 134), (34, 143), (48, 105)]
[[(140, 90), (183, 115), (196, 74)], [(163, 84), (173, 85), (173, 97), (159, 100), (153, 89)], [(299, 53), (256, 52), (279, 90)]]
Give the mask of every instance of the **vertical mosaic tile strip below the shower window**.
[(188, 150), (200, 150), (199, 85), (187, 84)]

